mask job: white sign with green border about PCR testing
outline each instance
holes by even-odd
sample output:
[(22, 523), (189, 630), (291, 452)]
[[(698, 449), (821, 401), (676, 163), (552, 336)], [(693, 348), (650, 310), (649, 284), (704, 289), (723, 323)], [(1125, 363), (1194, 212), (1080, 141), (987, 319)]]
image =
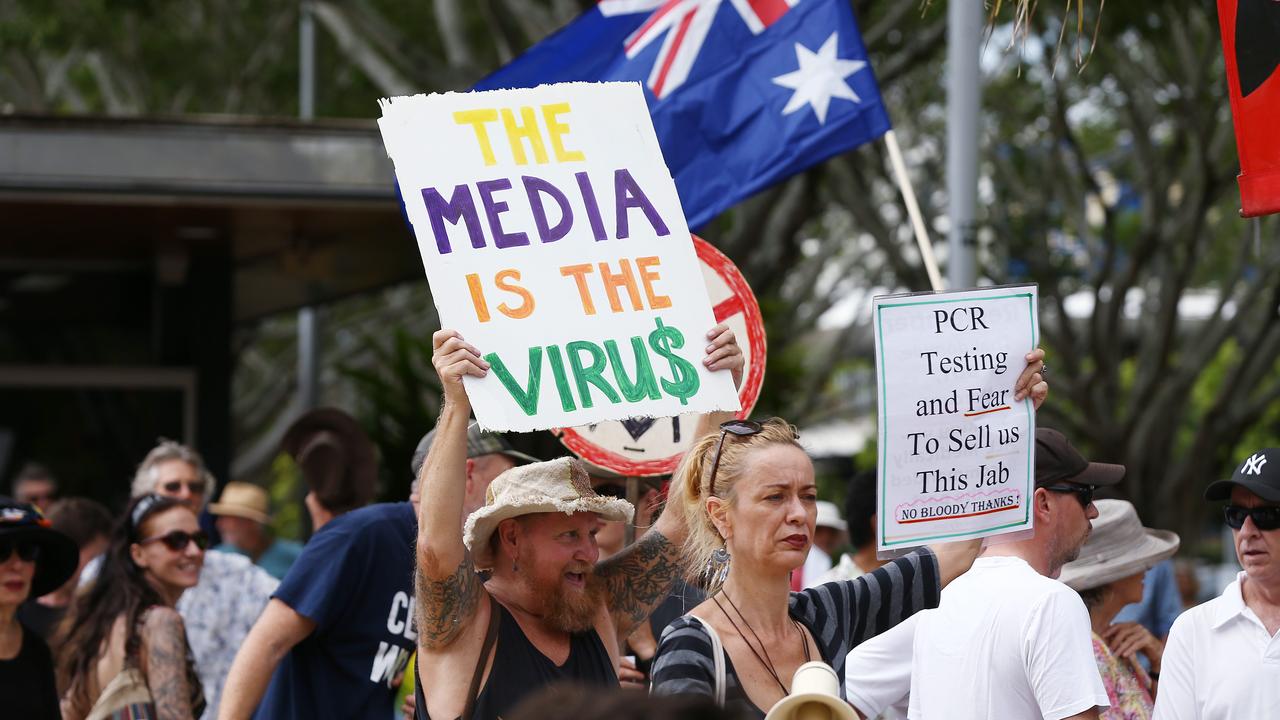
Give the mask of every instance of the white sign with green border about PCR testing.
[(1036, 286), (874, 299), (879, 550), (1032, 528)]

